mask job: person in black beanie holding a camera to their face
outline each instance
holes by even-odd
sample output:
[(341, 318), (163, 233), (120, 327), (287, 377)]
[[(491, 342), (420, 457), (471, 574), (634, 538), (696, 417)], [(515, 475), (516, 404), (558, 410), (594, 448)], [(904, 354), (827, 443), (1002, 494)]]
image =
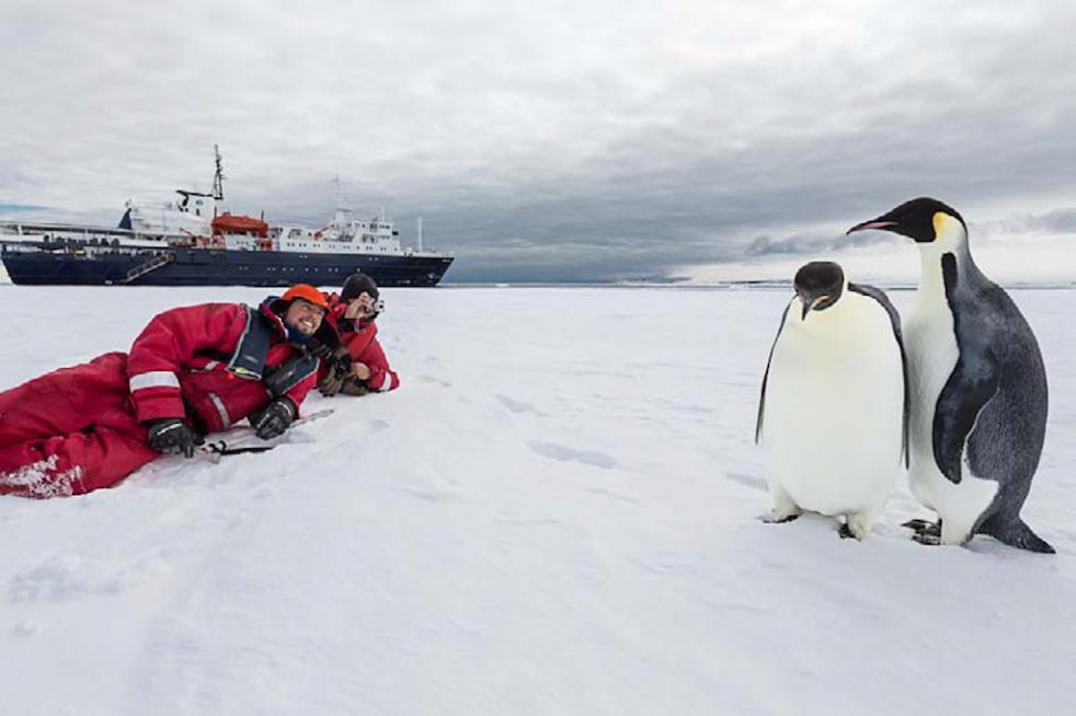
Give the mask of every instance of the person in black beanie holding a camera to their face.
[(385, 310), (377, 284), (366, 274), (353, 274), (340, 296), (328, 298), (328, 321), (340, 334), (343, 346), (322, 365), (318, 390), (322, 395), (365, 395), (400, 386), (400, 377), (389, 367), (377, 340), (374, 321)]

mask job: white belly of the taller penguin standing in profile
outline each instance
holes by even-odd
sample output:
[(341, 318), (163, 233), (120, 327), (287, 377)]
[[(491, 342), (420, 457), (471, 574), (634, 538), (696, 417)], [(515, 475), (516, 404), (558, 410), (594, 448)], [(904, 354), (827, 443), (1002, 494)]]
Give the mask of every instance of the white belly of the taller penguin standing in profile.
[(993, 501), (997, 483), (974, 477), (965, 466), (963, 480), (954, 485), (935, 461), (935, 409), (960, 357), (948, 305), (920, 304), (909, 313), (904, 345), (912, 402), (908, 487), (920, 504), (938, 512), (947, 532), (966, 532)]

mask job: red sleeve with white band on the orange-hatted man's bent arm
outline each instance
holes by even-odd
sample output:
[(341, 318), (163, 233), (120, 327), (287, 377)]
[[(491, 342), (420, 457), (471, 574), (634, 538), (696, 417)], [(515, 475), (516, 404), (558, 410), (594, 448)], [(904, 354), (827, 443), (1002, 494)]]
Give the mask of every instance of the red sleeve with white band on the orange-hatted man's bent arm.
[(238, 303), (205, 303), (154, 316), (135, 338), (127, 358), (138, 419), (183, 417), (180, 368), (199, 350), (230, 355), (245, 325), (247, 312)]

